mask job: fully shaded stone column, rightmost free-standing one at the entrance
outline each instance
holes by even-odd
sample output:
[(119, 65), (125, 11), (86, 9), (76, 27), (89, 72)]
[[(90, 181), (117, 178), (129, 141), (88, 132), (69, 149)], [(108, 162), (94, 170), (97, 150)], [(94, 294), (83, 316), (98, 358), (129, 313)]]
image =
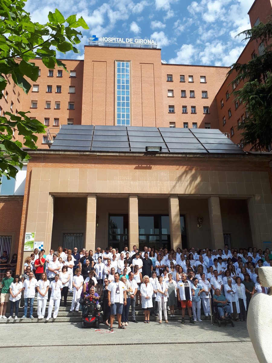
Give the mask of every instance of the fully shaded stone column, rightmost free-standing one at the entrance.
[(224, 236), (219, 197), (209, 197), (211, 240), (214, 249), (224, 249)]

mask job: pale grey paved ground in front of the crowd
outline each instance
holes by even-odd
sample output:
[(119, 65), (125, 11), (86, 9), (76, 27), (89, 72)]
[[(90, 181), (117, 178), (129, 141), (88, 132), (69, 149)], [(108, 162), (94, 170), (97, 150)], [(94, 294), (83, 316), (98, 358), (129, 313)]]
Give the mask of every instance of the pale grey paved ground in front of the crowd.
[(79, 323), (7, 323), (1, 325), (1, 363), (10, 363), (12, 357), (17, 357), (18, 363), (29, 363), (37, 356), (39, 363), (169, 363), (173, 359), (190, 363), (258, 363), (245, 322), (233, 328), (211, 326), (208, 321), (195, 325), (188, 321), (185, 325), (180, 321), (129, 323), (126, 330), (118, 330), (116, 324), (114, 327), (114, 332), (109, 333), (103, 324), (96, 331), (83, 330)]

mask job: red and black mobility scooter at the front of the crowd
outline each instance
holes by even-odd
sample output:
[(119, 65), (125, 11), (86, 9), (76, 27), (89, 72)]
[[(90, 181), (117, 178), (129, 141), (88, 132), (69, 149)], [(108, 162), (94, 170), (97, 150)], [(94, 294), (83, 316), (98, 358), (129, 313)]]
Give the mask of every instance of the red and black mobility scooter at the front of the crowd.
[(96, 301), (91, 298), (85, 300), (82, 309), (82, 329), (90, 327), (99, 329), (99, 324), (103, 322), (101, 307), (100, 305), (96, 305)]

